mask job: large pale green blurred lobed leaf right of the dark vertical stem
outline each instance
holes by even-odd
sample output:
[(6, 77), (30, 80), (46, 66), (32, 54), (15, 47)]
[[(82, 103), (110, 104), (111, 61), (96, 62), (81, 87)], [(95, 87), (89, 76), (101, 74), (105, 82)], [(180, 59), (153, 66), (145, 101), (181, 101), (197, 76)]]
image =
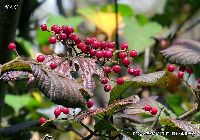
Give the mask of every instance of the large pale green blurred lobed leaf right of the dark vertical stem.
[(140, 25), (135, 17), (124, 18), (124, 37), (129, 43), (130, 49), (135, 49), (139, 53), (151, 47), (155, 40), (152, 38), (162, 31), (161, 25), (156, 22), (148, 22)]

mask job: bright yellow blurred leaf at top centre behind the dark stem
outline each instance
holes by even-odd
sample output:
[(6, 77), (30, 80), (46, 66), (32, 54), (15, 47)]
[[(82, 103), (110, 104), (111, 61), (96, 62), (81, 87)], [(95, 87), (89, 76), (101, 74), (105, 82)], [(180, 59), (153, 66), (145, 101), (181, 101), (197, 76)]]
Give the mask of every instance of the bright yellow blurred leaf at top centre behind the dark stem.
[[(92, 8), (80, 8), (77, 13), (86, 17), (94, 23), (100, 30), (105, 32), (109, 38), (112, 38), (116, 29), (115, 13), (96, 12)], [(118, 15), (119, 25), (122, 23), (122, 17)]]

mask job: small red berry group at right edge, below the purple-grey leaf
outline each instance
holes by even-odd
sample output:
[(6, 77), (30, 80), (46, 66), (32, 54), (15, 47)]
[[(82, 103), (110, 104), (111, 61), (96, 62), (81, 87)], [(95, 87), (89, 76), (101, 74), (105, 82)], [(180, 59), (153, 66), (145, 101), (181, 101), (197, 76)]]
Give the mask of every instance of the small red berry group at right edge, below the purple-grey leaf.
[[(167, 70), (169, 72), (174, 72), (176, 70), (176, 67), (173, 64), (169, 64), (167, 65)], [(191, 67), (179, 66), (177, 77), (182, 79), (184, 77), (185, 72), (191, 75), (193, 73), (193, 69)], [(198, 79), (197, 81), (197, 88), (200, 89), (200, 79)]]

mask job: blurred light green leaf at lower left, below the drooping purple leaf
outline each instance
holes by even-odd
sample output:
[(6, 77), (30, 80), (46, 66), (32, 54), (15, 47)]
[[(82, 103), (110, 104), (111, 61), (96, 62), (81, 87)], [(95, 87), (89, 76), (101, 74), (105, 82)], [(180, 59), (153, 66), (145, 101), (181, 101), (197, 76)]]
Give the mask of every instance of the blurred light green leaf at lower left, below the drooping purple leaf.
[(32, 100), (34, 100), (29, 95), (12, 95), (7, 94), (5, 97), (5, 103), (14, 108), (15, 113), (19, 112), (19, 110), (27, 106)]

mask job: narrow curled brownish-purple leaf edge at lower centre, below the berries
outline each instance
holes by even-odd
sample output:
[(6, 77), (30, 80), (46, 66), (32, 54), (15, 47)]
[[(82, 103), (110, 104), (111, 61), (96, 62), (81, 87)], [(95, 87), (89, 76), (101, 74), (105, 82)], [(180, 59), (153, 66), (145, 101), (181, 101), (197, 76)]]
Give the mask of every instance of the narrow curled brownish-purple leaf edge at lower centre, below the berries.
[(85, 112), (81, 113), (80, 115), (78, 115), (77, 118), (80, 121), (83, 120), (84, 118), (86, 118), (87, 116), (96, 116), (99, 119), (109, 118), (110, 116), (112, 116), (115, 113), (116, 110), (118, 110), (122, 106), (134, 104), (138, 101), (139, 101), (138, 96), (136, 96), (136, 95), (131, 96), (129, 98), (122, 99), (113, 104), (110, 104), (108, 107), (105, 107), (105, 108), (98, 108), (98, 109), (85, 111)]

